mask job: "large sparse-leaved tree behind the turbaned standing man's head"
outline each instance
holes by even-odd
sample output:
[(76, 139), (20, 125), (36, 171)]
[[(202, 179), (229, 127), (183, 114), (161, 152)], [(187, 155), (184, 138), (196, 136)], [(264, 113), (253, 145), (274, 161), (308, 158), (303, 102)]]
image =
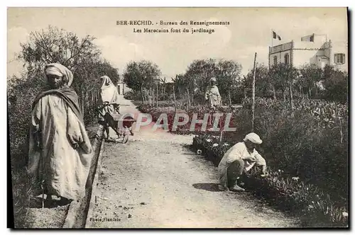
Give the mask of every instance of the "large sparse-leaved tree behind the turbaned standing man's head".
[[(47, 30), (31, 32), (28, 42), (21, 44), (18, 59), (24, 62), (27, 79), (40, 83), (45, 64), (58, 62), (70, 69), (75, 76), (72, 87), (77, 91), (84, 113), (87, 93), (97, 88), (98, 68), (110, 71), (107, 62), (102, 62), (101, 52), (94, 45), (94, 37), (87, 35), (80, 39), (75, 33), (49, 26)], [(97, 66), (101, 64), (102, 66)]]

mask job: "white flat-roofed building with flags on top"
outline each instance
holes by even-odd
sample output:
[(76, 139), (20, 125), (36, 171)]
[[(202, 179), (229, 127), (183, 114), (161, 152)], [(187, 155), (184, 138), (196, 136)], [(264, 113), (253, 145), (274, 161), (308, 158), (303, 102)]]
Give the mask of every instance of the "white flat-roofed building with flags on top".
[(332, 42), (327, 35), (307, 35), (300, 41), (292, 40), (274, 47), (269, 47), (269, 67), (273, 64), (286, 63), (293, 67), (304, 64), (317, 64), (324, 68), (329, 64), (336, 69), (348, 71), (347, 42)]

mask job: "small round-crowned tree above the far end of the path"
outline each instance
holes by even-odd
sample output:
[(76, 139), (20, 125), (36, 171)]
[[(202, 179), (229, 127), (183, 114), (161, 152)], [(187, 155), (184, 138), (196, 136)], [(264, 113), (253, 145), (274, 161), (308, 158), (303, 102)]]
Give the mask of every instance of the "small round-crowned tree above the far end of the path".
[(129, 62), (124, 71), (124, 82), (132, 90), (141, 92), (143, 102), (143, 88), (152, 88), (154, 79), (160, 74), (158, 65), (153, 62), (147, 60)]

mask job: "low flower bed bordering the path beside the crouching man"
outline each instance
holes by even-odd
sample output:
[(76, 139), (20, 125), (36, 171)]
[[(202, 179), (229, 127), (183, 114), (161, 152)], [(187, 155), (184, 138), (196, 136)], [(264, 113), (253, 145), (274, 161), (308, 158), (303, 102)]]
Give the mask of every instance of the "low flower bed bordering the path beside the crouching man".
[[(218, 166), (232, 144), (219, 142), (218, 137), (209, 134), (196, 135), (192, 151), (201, 153)], [(348, 227), (346, 207), (337, 207), (322, 189), (304, 183), (300, 177), (288, 176), (280, 169), (269, 168), (268, 173), (263, 178), (260, 171), (253, 168), (250, 176), (243, 177), (244, 188), (266, 199), (270, 205), (300, 217), (302, 227)]]

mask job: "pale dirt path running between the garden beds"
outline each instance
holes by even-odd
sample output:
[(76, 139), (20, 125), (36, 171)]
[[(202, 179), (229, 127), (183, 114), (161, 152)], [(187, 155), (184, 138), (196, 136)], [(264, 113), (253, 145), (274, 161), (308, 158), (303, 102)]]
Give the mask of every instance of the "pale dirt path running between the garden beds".
[[(121, 112), (138, 112), (130, 101)], [(188, 151), (192, 136), (146, 127), (127, 144), (105, 143), (87, 227), (296, 227), (250, 193), (219, 192), (217, 168)]]

